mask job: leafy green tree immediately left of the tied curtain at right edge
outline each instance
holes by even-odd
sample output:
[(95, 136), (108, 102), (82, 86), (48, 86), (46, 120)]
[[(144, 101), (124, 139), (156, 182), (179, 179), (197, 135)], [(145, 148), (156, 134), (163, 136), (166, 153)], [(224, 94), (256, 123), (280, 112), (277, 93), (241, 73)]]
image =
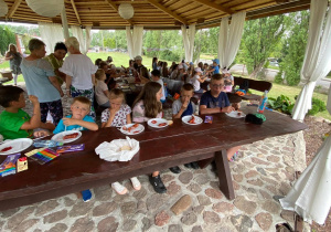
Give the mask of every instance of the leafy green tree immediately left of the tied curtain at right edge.
[(300, 71), (305, 59), (309, 29), (309, 11), (300, 11), (289, 14), (292, 22), (289, 36), (282, 46), (284, 59), (280, 63), (280, 73), (284, 72), (288, 85), (298, 85)]

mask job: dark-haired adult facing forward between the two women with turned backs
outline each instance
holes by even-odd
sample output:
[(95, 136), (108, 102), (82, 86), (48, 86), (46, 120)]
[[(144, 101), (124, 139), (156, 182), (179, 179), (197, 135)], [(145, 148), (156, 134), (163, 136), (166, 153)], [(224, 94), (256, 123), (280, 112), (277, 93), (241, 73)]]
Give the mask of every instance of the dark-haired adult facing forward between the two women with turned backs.
[(58, 68), (63, 65), (63, 59), (67, 53), (67, 49), (64, 43), (58, 42), (55, 44), (54, 53), (51, 53), (45, 57), (47, 62), (52, 65), (54, 73), (57, 77), (60, 86), (65, 82), (65, 74), (60, 72)]

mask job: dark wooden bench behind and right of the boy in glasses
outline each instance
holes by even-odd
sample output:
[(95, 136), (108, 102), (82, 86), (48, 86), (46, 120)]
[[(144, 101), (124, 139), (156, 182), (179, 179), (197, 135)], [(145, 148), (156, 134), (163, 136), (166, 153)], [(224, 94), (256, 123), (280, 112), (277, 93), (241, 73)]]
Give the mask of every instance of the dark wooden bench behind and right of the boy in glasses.
[[(265, 92), (265, 91), (270, 91), (273, 87), (273, 83), (270, 82), (266, 82), (266, 81), (257, 81), (257, 80), (253, 80), (253, 78), (244, 78), (241, 76), (234, 76), (234, 88), (241, 85), (244, 85), (245, 82), (248, 82), (248, 89), (254, 89), (254, 91), (259, 91), (259, 92)], [(245, 101), (259, 101), (260, 99), (260, 95), (257, 94), (250, 94), (250, 95), (244, 95), (241, 96), (242, 99)]]

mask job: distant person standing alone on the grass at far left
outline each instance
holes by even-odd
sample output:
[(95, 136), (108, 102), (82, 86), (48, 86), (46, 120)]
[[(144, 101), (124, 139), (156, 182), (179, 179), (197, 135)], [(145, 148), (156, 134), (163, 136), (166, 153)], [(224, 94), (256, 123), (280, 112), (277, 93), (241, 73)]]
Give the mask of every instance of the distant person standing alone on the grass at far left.
[(14, 80), (14, 85), (18, 85), (18, 76), (22, 73), (20, 67), (22, 62), (22, 55), (18, 52), (18, 49), (14, 44), (9, 44), (4, 60), (9, 61), (10, 70)]

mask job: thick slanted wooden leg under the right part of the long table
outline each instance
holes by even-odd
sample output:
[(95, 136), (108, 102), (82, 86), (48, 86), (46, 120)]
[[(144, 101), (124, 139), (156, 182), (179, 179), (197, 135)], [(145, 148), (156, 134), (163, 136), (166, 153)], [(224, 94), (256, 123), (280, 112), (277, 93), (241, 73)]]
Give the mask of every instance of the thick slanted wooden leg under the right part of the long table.
[(215, 152), (215, 164), (217, 168), (221, 191), (228, 200), (235, 199), (226, 150)]

